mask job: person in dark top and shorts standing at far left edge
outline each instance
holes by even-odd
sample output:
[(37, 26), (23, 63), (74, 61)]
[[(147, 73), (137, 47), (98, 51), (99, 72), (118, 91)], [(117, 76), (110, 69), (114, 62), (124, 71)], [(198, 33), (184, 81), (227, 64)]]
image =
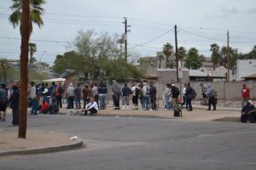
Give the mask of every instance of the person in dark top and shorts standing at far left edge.
[[(6, 107), (8, 103), (8, 90), (5, 84), (2, 82), (0, 85), (0, 120), (5, 121)], [(3, 117), (1, 112), (3, 112)]]

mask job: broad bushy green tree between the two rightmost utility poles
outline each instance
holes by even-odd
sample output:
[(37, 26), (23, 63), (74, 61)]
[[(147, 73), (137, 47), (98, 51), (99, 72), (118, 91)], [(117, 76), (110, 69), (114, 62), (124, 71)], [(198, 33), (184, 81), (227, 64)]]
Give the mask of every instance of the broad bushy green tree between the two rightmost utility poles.
[(188, 57), (185, 59), (185, 67), (198, 69), (201, 67), (203, 59), (203, 56), (198, 54), (198, 50), (196, 48), (190, 48)]

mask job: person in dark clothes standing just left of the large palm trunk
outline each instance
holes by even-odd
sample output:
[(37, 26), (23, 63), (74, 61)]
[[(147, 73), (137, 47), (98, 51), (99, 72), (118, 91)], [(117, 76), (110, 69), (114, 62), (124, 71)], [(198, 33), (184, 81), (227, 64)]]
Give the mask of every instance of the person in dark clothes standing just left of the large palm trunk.
[(13, 113), (13, 122), (14, 126), (19, 125), (19, 106), (20, 106), (20, 90), (17, 85), (13, 85), (13, 93), (10, 97), (10, 108)]

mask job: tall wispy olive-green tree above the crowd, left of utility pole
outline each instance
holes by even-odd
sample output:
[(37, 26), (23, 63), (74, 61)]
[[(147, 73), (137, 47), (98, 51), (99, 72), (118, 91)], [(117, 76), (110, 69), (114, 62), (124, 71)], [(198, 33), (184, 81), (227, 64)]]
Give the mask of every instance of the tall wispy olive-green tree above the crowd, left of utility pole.
[(97, 34), (95, 31), (79, 31), (74, 45), (76, 52), (81, 54), (81, 61), (89, 65), (91, 77), (96, 79), (102, 73), (108, 77), (108, 60), (119, 59), (120, 51), (118, 36), (109, 36), (108, 33)]

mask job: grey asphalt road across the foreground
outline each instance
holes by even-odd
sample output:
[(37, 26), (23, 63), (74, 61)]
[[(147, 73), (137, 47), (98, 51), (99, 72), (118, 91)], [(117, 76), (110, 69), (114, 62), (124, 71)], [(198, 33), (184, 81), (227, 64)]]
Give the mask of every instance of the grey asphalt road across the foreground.
[(1, 157), (1, 170), (256, 169), (250, 123), (39, 115), (28, 116), (27, 128), (76, 135), (87, 147)]

